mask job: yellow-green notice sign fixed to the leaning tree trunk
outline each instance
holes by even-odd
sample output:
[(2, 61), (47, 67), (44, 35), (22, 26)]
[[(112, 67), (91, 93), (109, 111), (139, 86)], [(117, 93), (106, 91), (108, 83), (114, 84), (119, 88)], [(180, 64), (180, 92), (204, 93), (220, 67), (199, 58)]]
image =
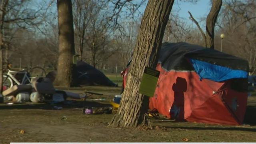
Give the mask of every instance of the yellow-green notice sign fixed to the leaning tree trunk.
[(159, 75), (160, 72), (158, 70), (145, 67), (139, 93), (150, 97), (154, 96)]

